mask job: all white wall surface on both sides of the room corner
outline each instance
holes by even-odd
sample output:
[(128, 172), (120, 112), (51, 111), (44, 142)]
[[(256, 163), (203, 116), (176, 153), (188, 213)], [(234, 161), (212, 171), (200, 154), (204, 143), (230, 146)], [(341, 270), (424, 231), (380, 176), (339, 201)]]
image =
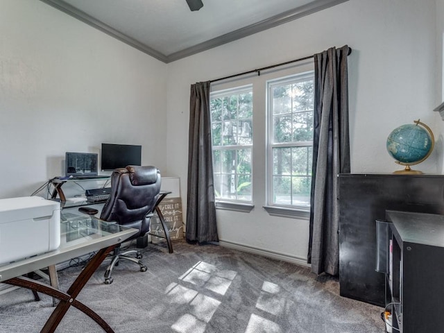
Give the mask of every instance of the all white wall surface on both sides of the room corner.
[[(344, 44), (353, 49), (352, 172), (391, 173), (399, 169), (385, 148), (393, 128), (421, 119), (437, 137), (444, 131), (432, 112), (443, 89), (443, 7), (350, 0), (165, 65), (41, 1), (0, 0), (0, 198), (31, 194), (60, 175), (65, 151), (98, 153), (101, 142), (115, 142), (142, 144), (144, 164), (179, 176), (185, 207), (189, 86)], [(418, 169), (441, 172), (438, 151)], [(221, 240), (303, 262), (308, 221), (262, 209), (264, 170), (255, 169), (262, 186), (252, 212), (218, 210)]]

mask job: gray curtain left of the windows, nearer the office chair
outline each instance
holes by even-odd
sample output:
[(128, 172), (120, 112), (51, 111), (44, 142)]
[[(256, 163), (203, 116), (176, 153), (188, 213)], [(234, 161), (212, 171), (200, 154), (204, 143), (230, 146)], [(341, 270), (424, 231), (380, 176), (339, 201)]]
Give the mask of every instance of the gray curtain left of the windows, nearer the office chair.
[(214, 204), (210, 81), (191, 85), (187, 185), (187, 241), (219, 241)]

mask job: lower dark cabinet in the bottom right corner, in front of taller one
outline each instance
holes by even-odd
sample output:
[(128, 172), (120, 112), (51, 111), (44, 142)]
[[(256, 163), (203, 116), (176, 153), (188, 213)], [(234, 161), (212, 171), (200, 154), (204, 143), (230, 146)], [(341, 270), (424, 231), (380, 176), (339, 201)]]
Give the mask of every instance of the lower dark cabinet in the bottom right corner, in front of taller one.
[(443, 332), (444, 216), (387, 211), (386, 307), (392, 332)]

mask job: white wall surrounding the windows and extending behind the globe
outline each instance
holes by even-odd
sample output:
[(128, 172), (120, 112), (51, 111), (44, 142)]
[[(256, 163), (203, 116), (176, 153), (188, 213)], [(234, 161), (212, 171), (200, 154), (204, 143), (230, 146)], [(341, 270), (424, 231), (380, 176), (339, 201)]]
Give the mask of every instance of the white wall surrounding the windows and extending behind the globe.
[[(433, 0), (350, 0), (170, 64), (168, 166), (182, 180), (184, 206), (189, 85), (308, 56), (330, 46), (348, 44), (353, 49), (349, 57), (352, 172), (400, 169), (386, 152), (391, 130), (417, 119), (435, 131), (441, 126), (432, 112), (436, 106), (435, 20)], [(436, 173), (436, 158), (435, 153), (418, 169)], [(264, 169), (255, 169), (255, 181), (265, 182)], [(262, 208), (262, 193), (255, 192), (254, 204), (249, 214), (218, 210), (221, 240), (303, 261), (308, 221), (269, 216)]]

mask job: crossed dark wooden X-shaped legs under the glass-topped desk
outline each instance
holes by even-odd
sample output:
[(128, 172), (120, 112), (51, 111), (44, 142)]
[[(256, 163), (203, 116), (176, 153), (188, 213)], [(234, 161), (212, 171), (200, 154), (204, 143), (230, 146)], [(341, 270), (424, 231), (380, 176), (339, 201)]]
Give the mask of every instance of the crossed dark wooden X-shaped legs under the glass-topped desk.
[(76, 300), (76, 297), (80, 293), (80, 291), (85, 287), (85, 284), (88, 282), (89, 278), (94, 274), (96, 269), (100, 266), (103, 260), (107, 257), (108, 253), (110, 253), (114, 249), (115, 245), (109, 246), (108, 248), (103, 248), (99, 250), (96, 255), (92, 258), (92, 260), (87, 264), (87, 266), (80, 272), (76, 280), (71, 284), (68, 291), (63, 293), (62, 291), (49, 286), (48, 284), (44, 284), (39, 281), (31, 280), (24, 277), (12, 278), (10, 280), (6, 280), (3, 283), (12, 284), (14, 286), (23, 287), (31, 290), (35, 290), (41, 293), (44, 293), (48, 296), (52, 296), (58, 298), (60, 300), (56, 309), (54, 309), (53, 313), (49, 317), (48, 321), (42, 328), (41, 333), (52, 333), (56, 331), (58, 324), (62, 320), (63, 316), (67, 313), (69, 307), (74, 306), (84, 314), (92, 318), (96, 323), (98, 323), (105, 332), (114, 333), (110, 325), (108, 325), (99, 314), (96, 314), (92, 309), (89, 309), (82, 302)]

